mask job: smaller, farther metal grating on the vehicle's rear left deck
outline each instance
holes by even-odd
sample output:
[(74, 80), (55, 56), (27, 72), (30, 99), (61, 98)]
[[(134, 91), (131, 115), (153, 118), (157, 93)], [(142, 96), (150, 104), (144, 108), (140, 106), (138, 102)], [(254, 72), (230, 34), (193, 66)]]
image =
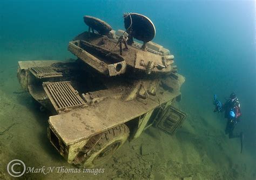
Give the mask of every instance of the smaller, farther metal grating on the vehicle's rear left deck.
[(35, 66), (30, 68), (30, 72), (37, 78), (44, 77), (61, 77), (62, 73), (58, 73), (51, 66)]

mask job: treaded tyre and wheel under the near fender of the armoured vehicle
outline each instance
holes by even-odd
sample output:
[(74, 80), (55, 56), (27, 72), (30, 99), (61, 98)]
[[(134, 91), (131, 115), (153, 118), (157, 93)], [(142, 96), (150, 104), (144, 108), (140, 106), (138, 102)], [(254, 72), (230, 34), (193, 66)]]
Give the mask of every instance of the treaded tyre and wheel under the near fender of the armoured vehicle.
[(96, 135), (78, 153), (74, 163), (86, 168), (104, 165), (117, 149), (124, 144), (129, 133), (129, 128), (122, 124)]

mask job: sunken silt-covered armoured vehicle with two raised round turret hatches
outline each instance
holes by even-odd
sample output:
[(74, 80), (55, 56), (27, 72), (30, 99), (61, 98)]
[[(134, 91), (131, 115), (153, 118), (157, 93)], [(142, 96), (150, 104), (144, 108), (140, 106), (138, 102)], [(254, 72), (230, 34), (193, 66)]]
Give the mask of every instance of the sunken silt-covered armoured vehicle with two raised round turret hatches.
[(58, 152), (69, 163), (95, 167), (151, 125), (173, 134), (186, 116), (172, 106), (185, 78), (170, 51), (151, 42), (156, 29), (149, 18), (125, 14), (126, 31), (91, 16), (84, 21), (89, 31), (68, 47), (77, 60), (20, 61), (18, 79), (53, 113), (48, 137)]

